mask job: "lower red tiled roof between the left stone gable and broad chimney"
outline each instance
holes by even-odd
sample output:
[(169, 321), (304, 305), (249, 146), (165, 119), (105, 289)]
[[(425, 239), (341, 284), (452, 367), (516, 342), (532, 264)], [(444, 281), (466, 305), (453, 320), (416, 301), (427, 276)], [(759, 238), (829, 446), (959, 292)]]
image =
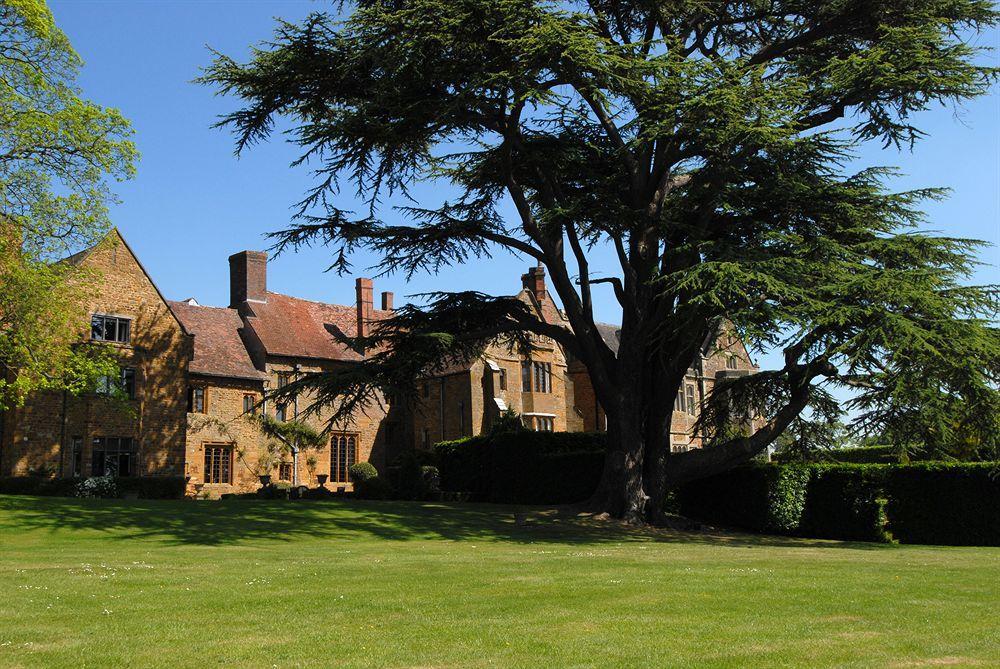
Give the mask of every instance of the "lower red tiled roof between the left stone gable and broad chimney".
[(243, 326), (235, 309), (202, 307), (188, 302), (167, 302), (171, 311), (194, 334), (192, 374), (238, 379), (264, 379), (253, 366), (239, 329)]

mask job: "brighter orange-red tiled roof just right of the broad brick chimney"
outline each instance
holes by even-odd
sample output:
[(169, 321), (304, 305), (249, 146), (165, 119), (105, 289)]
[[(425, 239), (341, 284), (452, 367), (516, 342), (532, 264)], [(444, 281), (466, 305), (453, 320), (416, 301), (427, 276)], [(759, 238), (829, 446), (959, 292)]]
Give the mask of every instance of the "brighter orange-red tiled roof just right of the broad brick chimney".
[[(268, 355), (321, 360), (361, 360), (345, 343), (358, 334), (355, 306), (312, 302), (281, 293), (267, 293), (267, 302), (249, 304), (247, 318)], [(372, 320), (392, 312), (375, 309)]]

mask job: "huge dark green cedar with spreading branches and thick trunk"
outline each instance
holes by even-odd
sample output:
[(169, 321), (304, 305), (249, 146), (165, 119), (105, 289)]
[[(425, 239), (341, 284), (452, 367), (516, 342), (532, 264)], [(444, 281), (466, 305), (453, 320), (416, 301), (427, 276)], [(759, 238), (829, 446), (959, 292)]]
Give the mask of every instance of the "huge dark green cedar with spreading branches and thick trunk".
[[(345, 271), (367, 249), (404, 276), (511, 251), (547, 268), (572, 325), (439, 293), (359, 340), (375, 351), (362, 365), (284, 392), (346, 413), (489, 341), (549, 337), (607, 412), (593, 503), (631, 521), (655, 520), (668, 486), (761, 452), (837, 386), (868, 429), (943, 428), (962, 401), (966, 429), (996, 432), (997, 295), (965, 285), (978, 243), (919, 230), (942, 191), (891, 192), (891, 170), (846, 165), (862, 143), (919, 140), (917, 112), (985, 94), (996, 71), (962, 36), (997, 19), (986, 0), (365, 0), (282, 23), (248, 63), (218, 55), (203, 81), (244, 103), (220, 121), (237, 150), (282, 117), (316, 169), (279, 251), (327, 244)], [(429, 184), (457, 194), (386, 211)], [(343, 186), (362, 213), (338, 206)], [(591, 270), (595, 246), (617, 258), (611, 275)], [(617, 353), (596, 290), (621, 305)], [(720, 385), (701, 421), (724, 437), (672, 454), (677, 389), (725, 320), (784, 364)], [(750, 431), (720, 429), (747, 416), (761, 417)]]

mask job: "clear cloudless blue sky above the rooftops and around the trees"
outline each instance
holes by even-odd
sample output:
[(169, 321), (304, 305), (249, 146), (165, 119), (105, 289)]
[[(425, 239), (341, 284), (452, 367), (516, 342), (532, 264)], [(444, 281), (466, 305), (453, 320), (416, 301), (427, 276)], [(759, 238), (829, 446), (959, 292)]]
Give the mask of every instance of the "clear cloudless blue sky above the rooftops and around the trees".
[[(265, 248), (262, 235), (288, 223), (291, 206), (311, 179), (307, 169), (288, 167), (295, 150), (281, 141), (237, 160), (232, 136), (210, 127), (236, 101), (191, 80), (210, 61), (208, 46), (246, 60), (250, 45), (270, 37), (274, 17), (294, 21), (330, 5), (73, 0), (51, 6), (86, 63), (80, 78), (84, 94), (121, 109), (136, 130), (142, 159), (137, 178), (117, 188), (122, 204), (112, 212), (115, 224), (168, 297), (225, 305), (227, 257)], [(1000, 36), (993, 32), (978, 42), (997, 47)], [(997, 63), (996, 54), (990, 60)], [(994, 91), (962, 109), (927, 112), (920, 124), (930, 136), (912, 153), (870, 146), (859, 162), (900, 167), (906, 176), (894, 184), (897, 189), (953, 189), (949, 200), (928, 205), (929, 227), (993, 243), (976, 279), (1000, 282), (1000, 96)], [(269, 286), (308, 299), (352, 303), (353, 278), (324, 273), (328, 259), (322, 249), (282, 256), (269, 267)], [(370, 262), (360, 257), (355, 267), (360, 272)], [(510, 293), (528, 264), (500, 252), (489, 263), (420, 277), (408, 286), (401, 277), (383, 278), (375, 290)], [(598, 317), (617, 322), (615, 306), (605, 295)]]

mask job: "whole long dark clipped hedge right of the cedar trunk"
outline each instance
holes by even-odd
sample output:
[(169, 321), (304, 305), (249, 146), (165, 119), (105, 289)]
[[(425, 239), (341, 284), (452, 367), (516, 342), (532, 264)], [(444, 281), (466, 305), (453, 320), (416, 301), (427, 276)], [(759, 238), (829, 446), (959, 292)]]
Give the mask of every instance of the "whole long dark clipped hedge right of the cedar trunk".
[(691, 518), (760, 532), (1000, 546), (1000, 463), (748, 465), (676, 499)]

